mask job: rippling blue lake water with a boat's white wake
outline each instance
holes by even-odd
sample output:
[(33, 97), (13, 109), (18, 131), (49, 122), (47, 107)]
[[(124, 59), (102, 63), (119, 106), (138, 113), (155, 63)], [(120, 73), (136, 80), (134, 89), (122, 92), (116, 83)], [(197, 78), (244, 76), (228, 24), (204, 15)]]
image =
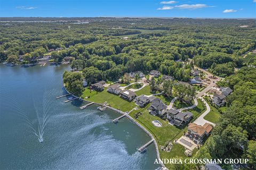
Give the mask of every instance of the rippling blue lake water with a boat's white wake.
[(150, 138), (130, 120), (114, 124), (118, 113), (55, 99), (69, 69), (0, 64), (0, 169), (157, 168), (154, 145), (136, 150)]

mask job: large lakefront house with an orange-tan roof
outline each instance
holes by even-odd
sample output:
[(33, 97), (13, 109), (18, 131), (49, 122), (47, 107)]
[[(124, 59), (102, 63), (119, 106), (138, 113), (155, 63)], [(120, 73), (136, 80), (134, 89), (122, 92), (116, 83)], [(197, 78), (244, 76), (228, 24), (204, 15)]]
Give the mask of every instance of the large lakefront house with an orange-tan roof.
[(195, 123), (189, 123), (186, 136), (193, 140), (196, 144), (201, 144), (203, 138), (209, 135), (211, 131), (212, 126), (209, 123), (205, 123), (203, 126)]

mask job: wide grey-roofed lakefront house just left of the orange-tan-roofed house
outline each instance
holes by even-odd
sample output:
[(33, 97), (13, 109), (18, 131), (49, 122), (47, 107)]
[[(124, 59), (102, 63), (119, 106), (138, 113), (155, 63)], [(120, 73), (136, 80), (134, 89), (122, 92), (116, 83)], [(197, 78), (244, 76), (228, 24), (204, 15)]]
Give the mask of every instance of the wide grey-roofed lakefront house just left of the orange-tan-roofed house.
[(173, 121), (175, 125), (180, 126), (191, 120), (193, 114), (191, 112), (179, 112), (176, 109), (169, 109), (167, 111), (167, 119)]

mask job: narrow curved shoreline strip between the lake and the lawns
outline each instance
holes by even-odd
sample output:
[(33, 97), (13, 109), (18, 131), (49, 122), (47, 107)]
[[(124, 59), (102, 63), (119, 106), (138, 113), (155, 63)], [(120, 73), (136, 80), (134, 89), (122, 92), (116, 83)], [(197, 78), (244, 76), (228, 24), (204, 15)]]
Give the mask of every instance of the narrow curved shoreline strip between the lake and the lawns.
[[(70, 94), (70, 92), (66, 89), (66, 87), (65, 87), (65, 86), (63, 86), (63, 87), (64, 87), (65, 91)], [(75, 96), (75, 95), (73, 95), (73, 94), (72, 94), (72, 96), (77, 97), (77, 96)], [(91, 101), (82, 99), (81, 97), (77, 97), (77, 99), (80, 99), (80, 100), (83, 100), (83, 101), (85, 101), (85, 102), (91, 103)], [(99, 106), (103, 106), (103, 105), (100, 104), (100, 103), (95, 103), (95, 102), (94, 102), (93, 105), (94, 105), (94, 104), (95, 104), (95, 105), (99, 105)], [(122, 115), (125, 114), (123, 111), (120, 111), (120, 110), (118, 110), (118, 109), (116, 109), (116, 108), (114, 108), (114, 107), (108, 106), (108, 108), (111, 109), (112, 111), (115, 111), (115, 112), (119, 113), (119, 114), (122, 114)], [(129, 120), (131, 120), (131, 121), (132, 121), (133, 123), (135, 123), (136, 125), (138, 125), (144, 132), (146, 132), (146, 133), (149, 135), (149, 137), (150, 137), (151, 139), (154, 139), (154, 145), (155, 145), (155, 149), (156, 149), (156, 156), (157, 156), (157, 159), (160, 160), (161, 158), (160, 158), (160, 154), (159, 154), (157, 142), (156, 142), (156, 139), (154, 138), (154, 136), (153, 136), (146, 128), (144, 128), (139, 122), (135, 121), (129, 114), (126, 114), (125, 117), (127, 117)], [(160, 164), (161, 164), (162, 167), (165, 167), (165, 165), (164, 165), (162, 162), (160, 162)]]

